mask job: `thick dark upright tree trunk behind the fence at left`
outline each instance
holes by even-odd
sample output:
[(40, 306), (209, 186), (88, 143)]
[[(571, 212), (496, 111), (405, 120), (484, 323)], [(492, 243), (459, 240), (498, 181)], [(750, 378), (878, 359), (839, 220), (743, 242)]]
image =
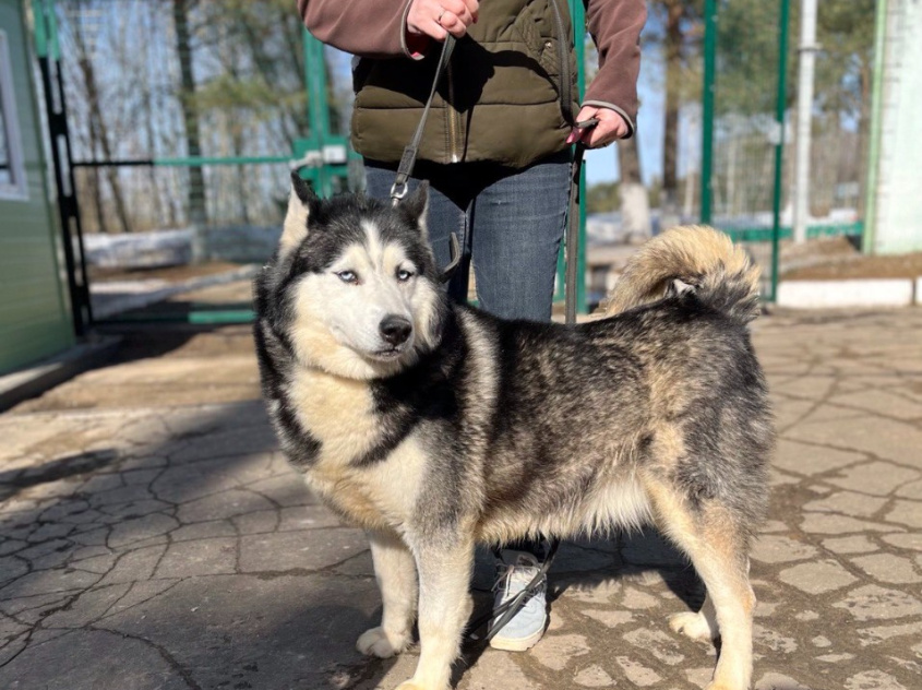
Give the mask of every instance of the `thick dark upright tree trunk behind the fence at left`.
[[(179, 105), (182, 109), (182, 123), (185, 130), (187, 155), (202, 155), (199, 117), (193, 105), (195, 76), (192, 73), (191, 36), (189, 33), (190, 0), (173, 0), (172, 21), (176, 28), (176, 50), (179, 55), (179, 73), (182, 85)], [(205, 177), (201, 166), (189, 168), (189, 221), (196, 228), (202, 228), (208, 221), (205, 205)]]

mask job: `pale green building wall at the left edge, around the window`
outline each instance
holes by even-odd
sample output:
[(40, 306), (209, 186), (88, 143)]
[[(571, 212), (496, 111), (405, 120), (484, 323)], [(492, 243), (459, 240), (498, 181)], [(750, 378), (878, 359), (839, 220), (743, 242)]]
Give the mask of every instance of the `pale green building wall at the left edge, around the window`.
[(56, 246), (32, 56), (20, 0), (0, 0), (27, 194), (0, 199), (0, 374), (73, 344)]

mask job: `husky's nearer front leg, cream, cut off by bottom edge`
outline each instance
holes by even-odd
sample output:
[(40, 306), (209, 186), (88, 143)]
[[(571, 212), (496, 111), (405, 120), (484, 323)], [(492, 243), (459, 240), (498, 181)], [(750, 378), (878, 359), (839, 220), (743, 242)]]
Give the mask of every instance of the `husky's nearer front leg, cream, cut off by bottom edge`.
[(419, 664), (397, 690), (447, 690), (470, 616), (474, 545), (445, 542), (414, 549), (419, 570)]

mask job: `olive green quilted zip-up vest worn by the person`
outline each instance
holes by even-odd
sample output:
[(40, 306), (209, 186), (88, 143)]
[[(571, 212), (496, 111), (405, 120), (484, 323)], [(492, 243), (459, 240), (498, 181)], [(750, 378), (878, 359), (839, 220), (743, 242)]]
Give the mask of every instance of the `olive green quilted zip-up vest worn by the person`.
[[(560, 8), (560, 19), (554, 8)], [(560, 24), (559, 24), (560, 22)], [(523, 168), (566, 147), (561, 103), (562, 25), (572, 114), (578, 111), (566, 0), (483, 0), (458, 40), (432, 104), (420, 160), (491, 160)], [(354, 70), (352, 145), (368, 158), (400, 159), (432, 87), (440, 45), (422, 60), (362, 58)]]

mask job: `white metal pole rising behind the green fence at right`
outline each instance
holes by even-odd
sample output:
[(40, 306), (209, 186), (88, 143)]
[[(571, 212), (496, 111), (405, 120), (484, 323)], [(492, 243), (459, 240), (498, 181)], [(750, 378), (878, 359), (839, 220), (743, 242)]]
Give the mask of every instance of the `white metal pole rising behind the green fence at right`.
[(806, 241), (810, 217), (810, 150), (813, 124), (813, 76), (816, 61), (816, 0), (801, 0), (801, 43), (798, 47), (798, 146), (794, 181), (794, 242)]

